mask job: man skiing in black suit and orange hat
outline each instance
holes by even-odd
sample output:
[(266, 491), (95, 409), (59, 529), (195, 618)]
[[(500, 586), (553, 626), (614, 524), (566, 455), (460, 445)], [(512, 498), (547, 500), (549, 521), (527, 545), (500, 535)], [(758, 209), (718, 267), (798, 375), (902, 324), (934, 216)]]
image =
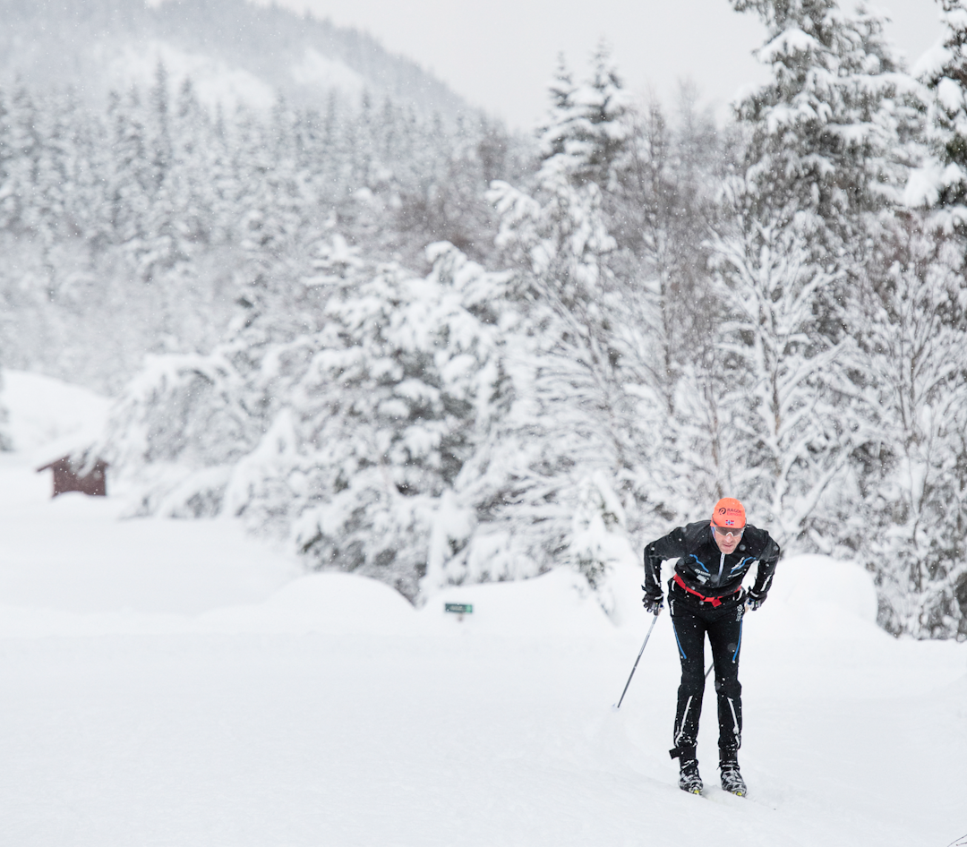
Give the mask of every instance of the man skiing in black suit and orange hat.
[[(742, 744), (742, 686), (739, 685), (739, 651), (742, 617), (766, 599), (776, 572), (779, 546), (765, 530), (746, 523), (746, 510), (731, 497), (718, 501), (711, 521), (699, 520), (678, 527), (645, 547), (645, 609), (658, 614), (661, 563), (678, 559), (668, 581), (668, 606), (682, 659), (678, 688), (672, 758), (679, 760), (678, 784), (683, 791), (700, 794), (695, 744), (705, 690), (705, 635), (712, 645), (718, 692), (718, 768), (722, 788), (740, 796), (746, 783), (739, 773)], [(742, 580), (759, 563), (755, 584), (748, 592)]]

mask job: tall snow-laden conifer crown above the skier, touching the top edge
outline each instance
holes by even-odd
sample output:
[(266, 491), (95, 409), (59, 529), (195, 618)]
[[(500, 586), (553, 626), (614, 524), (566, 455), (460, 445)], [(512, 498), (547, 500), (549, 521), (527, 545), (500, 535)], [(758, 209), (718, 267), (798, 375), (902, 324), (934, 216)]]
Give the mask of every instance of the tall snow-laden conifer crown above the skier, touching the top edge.
[[(835, 0), (733, 0), (768, 30), (758, 58), (770, 82), (737, 105), (751, 133), (747, 179), (757, 202), (818, 219), (815, 249), (835, 257), (898, 199), (897, 139), (916, 121), (913, 80), (883, 40), (883, 20)], [(864, 245), (864, 241), (863, 241)]]

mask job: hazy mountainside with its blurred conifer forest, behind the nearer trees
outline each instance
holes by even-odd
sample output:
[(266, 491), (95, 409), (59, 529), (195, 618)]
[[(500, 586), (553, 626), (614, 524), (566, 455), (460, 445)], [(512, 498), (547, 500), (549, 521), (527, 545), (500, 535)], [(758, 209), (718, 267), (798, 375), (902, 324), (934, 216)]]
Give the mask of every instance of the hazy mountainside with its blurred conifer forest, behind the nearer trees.
[(419, 267), (493, 250), (484, 191), (525, 149), (361, 33), (241, 0), (0, 18), (8, 366), (116, 392), (146, 353), (210, 350), (334, 228)]

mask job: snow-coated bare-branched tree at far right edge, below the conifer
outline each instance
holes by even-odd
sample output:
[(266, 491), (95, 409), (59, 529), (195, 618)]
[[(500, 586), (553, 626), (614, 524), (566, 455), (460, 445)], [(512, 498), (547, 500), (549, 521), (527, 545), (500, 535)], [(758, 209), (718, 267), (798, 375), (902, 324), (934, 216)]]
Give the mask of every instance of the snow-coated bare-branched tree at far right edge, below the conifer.
[[(867, 439), (844, 489), (880, 623), (967, 636), (967, 298), (957, 241), (911, 217), (894, 229), (865, 308)], [(851, 496), (853, 495), (853, 496)], [(857, 503), (862, 509), (857, 510)]]

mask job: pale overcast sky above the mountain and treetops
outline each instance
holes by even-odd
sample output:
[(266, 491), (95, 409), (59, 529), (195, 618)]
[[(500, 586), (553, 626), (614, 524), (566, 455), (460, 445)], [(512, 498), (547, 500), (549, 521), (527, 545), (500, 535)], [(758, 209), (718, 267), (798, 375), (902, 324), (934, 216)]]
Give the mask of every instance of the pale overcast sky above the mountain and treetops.
[[(264, 2), (264, 0), (263, 0)], [(626, 86), (665, 102), (690, 78), (719, 114), (765, 78), (750, 52), (764, 29), (728, 0), (277, 0), (375, 36), (419, 62), (474, 105), (520, 130), (541, 120), (563, 52), (580, 78), (603, 37)], [(844, 4), (848, 8), (848, 3)], [(888, 35), (911, 61), (941, 34), (934, 0), (879, 0)]]

